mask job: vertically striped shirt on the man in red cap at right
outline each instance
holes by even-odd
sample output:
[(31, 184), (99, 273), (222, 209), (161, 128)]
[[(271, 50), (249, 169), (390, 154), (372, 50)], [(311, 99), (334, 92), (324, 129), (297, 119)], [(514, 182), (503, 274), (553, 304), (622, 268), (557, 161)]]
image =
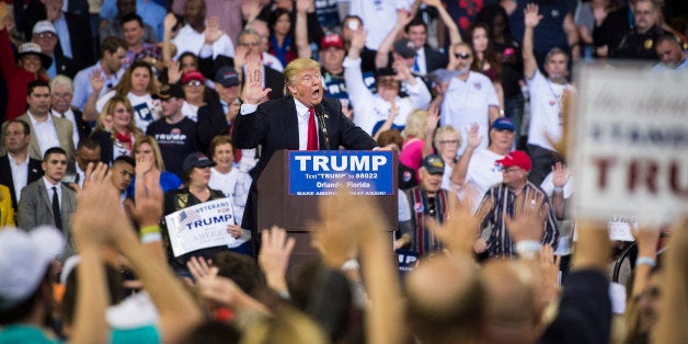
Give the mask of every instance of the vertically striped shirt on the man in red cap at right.
[[(532, 195), (537, 197), (544, 196), (544, 203), (549, 204), (549, 215), (547, 216), (544, 223), (544, 236), (542, 236), (542, 244), (549, 243), (553, 249), (557, 249), (559, 243), (559, 228), (557, 228), (557, 221), (554, 210), (549, 197), (535, 184), (528, 182), (523, 191), (525, 199), (532, 199)], [(486, 206), (486, 202), (492, 203), (490, 211), (485, 215), (481, 228), (490, 227), (492, 233), (488, 239), (488, 253), (490, 256), (516, 256), (516, 250), (512, 237), (506, 230), (506, 223), (504, 222), (504, 216), (508, 214), (514, 216), (516, 194), (506, 184), (500, 183), (492, 186), (485, 197), (478, 207), (479, 211)], [(544, 205), (543, 203), (543, 205)]]

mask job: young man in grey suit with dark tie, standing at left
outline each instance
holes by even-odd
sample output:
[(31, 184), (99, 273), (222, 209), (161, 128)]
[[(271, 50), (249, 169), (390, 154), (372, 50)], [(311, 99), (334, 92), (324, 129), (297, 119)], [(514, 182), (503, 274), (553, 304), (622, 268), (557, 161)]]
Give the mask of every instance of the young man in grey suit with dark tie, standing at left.
[(69, 237), (71, 214), (77, 208), (77, 194), (60, 183), (67, 172), (67, 153), (59, 147), (45, 152), (41, 165), (45, 175), (22, 190), (19, 202), (18, 225), (25, 230), (37, 226), (55, 226), (67, 239), (61, 260), (73, 254), (73, 244)]

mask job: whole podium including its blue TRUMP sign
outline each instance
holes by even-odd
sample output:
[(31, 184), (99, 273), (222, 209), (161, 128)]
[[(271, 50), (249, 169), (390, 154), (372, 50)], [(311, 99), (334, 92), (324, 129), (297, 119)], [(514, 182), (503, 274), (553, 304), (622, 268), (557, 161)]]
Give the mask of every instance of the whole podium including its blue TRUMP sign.
[(392, 231), (399, 227), (397, 152), (392, 151), (276, 151), (257, 180), (257, 228), (279, 226), (296, 239), (294, 266), (318, 252), (310, 245), (309, 221), (320, 219), (319, 200), (340, 185), (356, 197), (369, 197)]

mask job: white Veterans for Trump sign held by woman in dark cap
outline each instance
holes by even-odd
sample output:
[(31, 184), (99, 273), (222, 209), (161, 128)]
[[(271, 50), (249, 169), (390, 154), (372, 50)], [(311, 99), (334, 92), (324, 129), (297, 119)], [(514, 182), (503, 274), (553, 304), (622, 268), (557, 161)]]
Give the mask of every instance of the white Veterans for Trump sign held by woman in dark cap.
[(165, 216), (168, 233), (174, 256), (233, 243), (237, 239), (227, 232), (234, 225), (231, 198), (202, 203)]

